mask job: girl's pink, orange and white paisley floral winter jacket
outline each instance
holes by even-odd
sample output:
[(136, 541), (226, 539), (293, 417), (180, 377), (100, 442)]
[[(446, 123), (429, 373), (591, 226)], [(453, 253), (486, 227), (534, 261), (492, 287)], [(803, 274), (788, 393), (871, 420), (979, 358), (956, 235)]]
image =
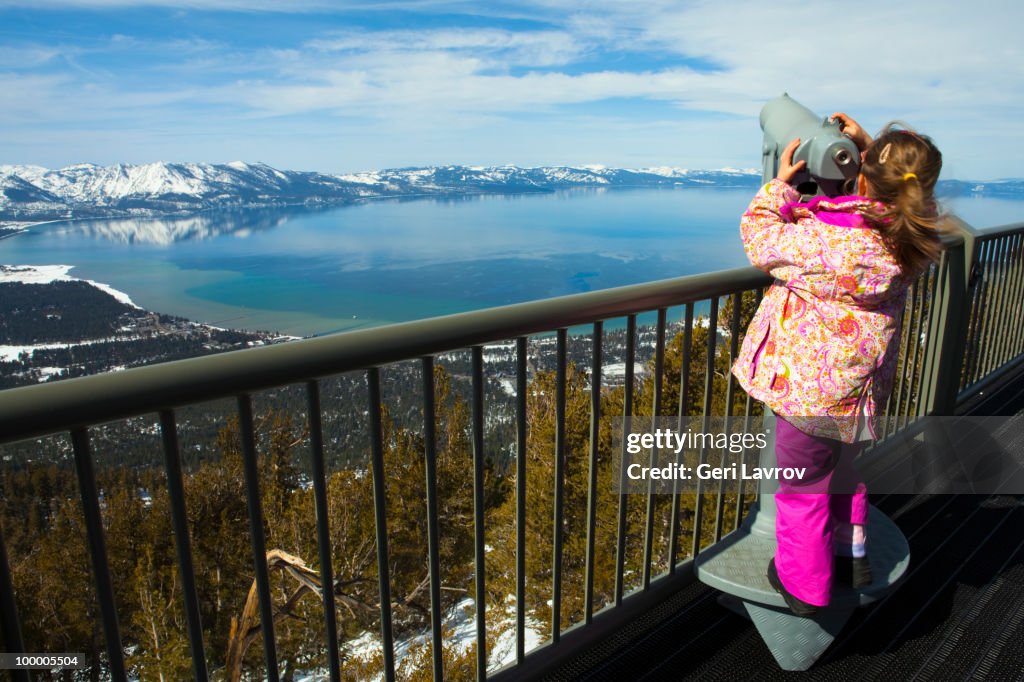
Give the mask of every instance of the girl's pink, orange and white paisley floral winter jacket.
[(753, 397), (801, 430), (846, 442), (892, 390), (905, 276), (863, 197), (797, 203), (780, 180), (740, 221), (751, 262), (775, 278), (732, 367)]

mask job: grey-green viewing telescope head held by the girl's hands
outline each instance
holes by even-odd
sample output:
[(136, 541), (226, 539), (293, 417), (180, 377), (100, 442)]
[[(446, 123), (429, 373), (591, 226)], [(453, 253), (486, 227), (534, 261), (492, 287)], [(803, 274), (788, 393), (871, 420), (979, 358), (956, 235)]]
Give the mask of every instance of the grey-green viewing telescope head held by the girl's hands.
[(769, 101), (761, 110), (763, 181), (775, 177), (782, 150), (799, 137), (793, 162), (806, 161), (807, 165), (793, 178), (793, 186), (804, 197), (855, 194), (860, 151), (840, 132), (839, 125), (839, 121), (816, 116), (788, 94)]

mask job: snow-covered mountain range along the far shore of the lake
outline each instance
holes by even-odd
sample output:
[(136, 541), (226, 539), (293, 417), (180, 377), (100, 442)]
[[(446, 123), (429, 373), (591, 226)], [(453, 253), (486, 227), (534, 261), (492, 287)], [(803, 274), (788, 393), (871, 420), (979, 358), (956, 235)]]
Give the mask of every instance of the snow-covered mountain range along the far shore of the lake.
[(0, 165), (0, 220), (190, 214), (223, 207), (344, 204), (384, 197), (518, 194), (571, 187), (757, 184), (754, 170), (602, 167), (402, 168), (348, 175), (265, 164)]

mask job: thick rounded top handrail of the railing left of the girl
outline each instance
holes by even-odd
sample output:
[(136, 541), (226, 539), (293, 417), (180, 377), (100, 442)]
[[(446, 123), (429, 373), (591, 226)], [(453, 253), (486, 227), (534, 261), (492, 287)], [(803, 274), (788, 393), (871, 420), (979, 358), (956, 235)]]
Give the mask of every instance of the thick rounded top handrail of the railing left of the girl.
[(0, 443), (763, 287), (738, 267), (0, 391)]

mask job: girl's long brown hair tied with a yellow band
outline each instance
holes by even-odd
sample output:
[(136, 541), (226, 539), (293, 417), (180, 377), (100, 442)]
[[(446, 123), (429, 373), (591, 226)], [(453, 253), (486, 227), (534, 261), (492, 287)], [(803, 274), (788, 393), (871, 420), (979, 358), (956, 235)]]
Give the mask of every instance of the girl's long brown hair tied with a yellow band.
[(939, 259), (946, 218), (935, 201), (942, 154), (932, 140), (889, 124), (867, 147), (860, 172), (868, 195), (885, 205), (865, 216), (904, 272), (915, 274)]

